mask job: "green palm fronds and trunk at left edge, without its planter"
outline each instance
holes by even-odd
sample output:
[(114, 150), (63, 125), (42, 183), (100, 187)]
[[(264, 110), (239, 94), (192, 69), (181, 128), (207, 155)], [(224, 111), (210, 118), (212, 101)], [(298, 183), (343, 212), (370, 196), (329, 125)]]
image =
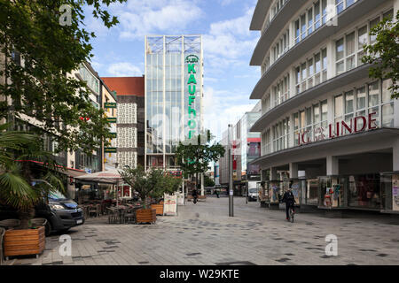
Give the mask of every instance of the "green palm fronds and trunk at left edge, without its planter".
[[(27, 228), (34, 217), (35, 204), (43, 200), (50, 191), (64, 186), (51, 170), (55, 162), (49, 152), (42, 150), (42, 139), (34, 134), (7, 131), (9, 125), (0, 125), (0, 203), (20, 212), (21, 228)], [(43, 161), (41, 182), (32, 185), (31, 164), (21, 160)]]

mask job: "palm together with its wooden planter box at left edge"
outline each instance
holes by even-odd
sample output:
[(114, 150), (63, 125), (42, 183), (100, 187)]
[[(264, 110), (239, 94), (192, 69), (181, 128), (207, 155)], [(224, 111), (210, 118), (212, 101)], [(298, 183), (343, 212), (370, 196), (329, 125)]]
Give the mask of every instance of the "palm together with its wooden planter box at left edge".
[[(35, 205), (46, 200), (48, 193), (54, 190), (51, 183), (62, 183), (50, 168), (43, 172), (32, 172), (31, 164), (15, 160), (43, 160), (52, 164), (51, 154), (42, 151), (41, 139), (33, 134), (6, 131), (7, 125), (0, 126), (0, 203), (17, 210), (20, 226), (4, 233), (4, 256), (39, 255), (45, 245), (44, 227), (30, 225), (35, 217)], [(35, 176), (40, 176), (35, 184)]]

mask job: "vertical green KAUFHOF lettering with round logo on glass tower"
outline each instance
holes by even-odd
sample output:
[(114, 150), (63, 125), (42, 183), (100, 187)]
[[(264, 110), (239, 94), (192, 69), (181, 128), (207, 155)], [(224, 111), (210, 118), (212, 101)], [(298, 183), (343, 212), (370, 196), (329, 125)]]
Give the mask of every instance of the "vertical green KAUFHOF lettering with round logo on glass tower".
[(185, 63), (187, 64), (187, 74), (189, 78), (187, 80), (188, 85), (188, 96), (189, 96), (189, 103), (188, 103), (188, 122), (187, 126), (189, 127), (188, 138), (192, 139), (195, 135), (195, 128), (197, 126), (196, 117), (197, 112), (195, 111), (195, 93), (197, 91), (197, 80), (195, 80), (195, 71), (196, 63), (199, 63), (199, 57), (195, 55), (189, 55), (185, 57)]

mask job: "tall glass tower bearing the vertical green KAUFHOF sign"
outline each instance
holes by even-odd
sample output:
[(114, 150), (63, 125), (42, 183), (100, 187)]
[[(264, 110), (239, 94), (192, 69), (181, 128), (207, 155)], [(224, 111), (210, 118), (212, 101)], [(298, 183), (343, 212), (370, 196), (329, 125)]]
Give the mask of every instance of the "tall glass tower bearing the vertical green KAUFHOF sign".
[(176, 170), (179, 142), (203, 129), (202, 36), (145, 36), (145, 168)]

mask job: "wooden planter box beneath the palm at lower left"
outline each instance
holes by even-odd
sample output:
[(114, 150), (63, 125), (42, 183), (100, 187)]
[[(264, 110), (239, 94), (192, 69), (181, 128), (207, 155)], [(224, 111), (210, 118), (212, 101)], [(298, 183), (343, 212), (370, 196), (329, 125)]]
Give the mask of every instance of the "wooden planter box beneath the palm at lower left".
[(37, 229), (7, 230), (4, 233), (4, 256), (36, 255), (45, 247), (44, 227)]

